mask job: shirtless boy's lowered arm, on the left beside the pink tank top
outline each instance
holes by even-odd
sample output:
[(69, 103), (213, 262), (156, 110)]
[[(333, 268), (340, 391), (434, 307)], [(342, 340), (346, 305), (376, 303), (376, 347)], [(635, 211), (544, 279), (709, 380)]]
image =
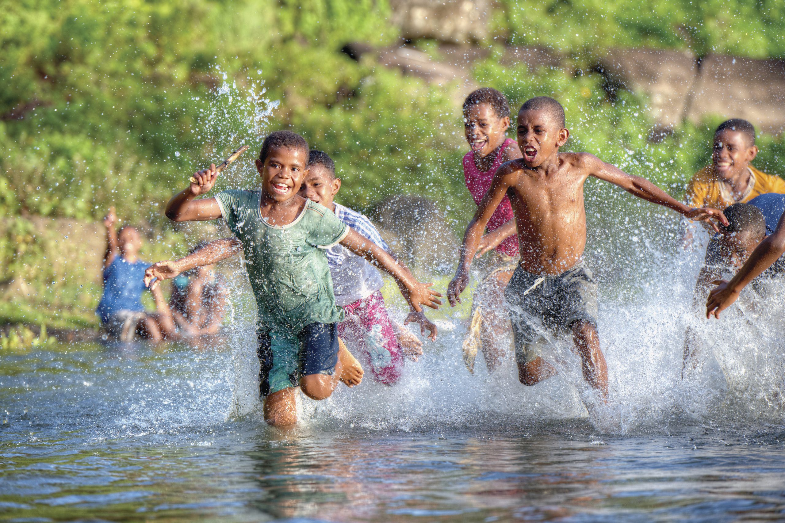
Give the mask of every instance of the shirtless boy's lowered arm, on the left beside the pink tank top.
[(452, 279), (447, 287), (447, 300), (450, 305), (455, 307), (456, 302), (460, 302), (459, 296), (469, 284), (469, 266), (472, 259), (480, 247), (480, 239), (488, 221), (491, 219), (496, 207), (502, 203), (502, 199), (507, 193), (507, 188), (517, 179), (518, 170), (512, 164), (506, 163), (498, 168), (491, 181), (491, 188), (483, 196), (480, 205), (477, 207), (474, 218), (469, 221), (466, 233), (463, 235), (461, 244), (460, 258), (458, 259), (458, 269), (455, 271), (455, 278)]

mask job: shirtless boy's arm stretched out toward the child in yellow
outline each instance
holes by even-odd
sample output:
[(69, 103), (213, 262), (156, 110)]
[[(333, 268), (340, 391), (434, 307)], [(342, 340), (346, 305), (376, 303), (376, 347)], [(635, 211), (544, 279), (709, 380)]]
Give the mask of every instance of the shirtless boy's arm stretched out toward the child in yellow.
[(711, 220), (719, 221), (722, 225), (728, 225), (725, 214), (722, 214), (720, 210), (709, 209), (707, 207), (694, 209), (677, 201), (646, 178), (626, 174), (623, 170), (619, 169), (619, 167), (611, 165), (610, 163), (604, 163), (601, 159), (597, 158), (597, 156), (591, 155), (588, 152), (579, 153), (578, 156), (590, 176), (617, 185), (626, 192), (630, 192), (630, 194), (645, 199), (648, 202), (657, 203), (658, 205), (673, 209), (691, 220), (706, 221), (714, 228), (715, 232), (720, 232), (720, 229), (717, 227), (717, 224)]

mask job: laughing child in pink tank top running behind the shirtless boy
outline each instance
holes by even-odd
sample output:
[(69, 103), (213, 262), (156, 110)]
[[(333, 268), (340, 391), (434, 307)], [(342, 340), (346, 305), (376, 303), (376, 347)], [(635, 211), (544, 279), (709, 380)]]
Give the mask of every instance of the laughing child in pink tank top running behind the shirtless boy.
[[(463, 102), (463, 121), (471, 148), (463, 157), (463, 174), (466, 188), (479, 205), (498, 167), (523, 155), (517, 141), (505, 135), (509, 104), (497, 90), (483, 87), (470, 93)], [(511, 327), (504, 308), (504, 289), (518, 264), (513, 218), (513, 207), (505, 196), (488, 221), (487, 233), (477, 251), (477, 256), (491, 250), (494, 254), (490, 270), (474, 291), (469, 335), (463, 342), (463, 360), (471, 372), (478, 350), (482, 351), (489, 372), (495, 371), (506, 356)]]

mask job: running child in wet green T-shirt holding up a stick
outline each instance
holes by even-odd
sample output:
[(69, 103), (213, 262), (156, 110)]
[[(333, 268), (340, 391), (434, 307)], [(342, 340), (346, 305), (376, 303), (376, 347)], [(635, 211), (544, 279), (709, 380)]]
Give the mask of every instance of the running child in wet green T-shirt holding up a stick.
[(217, 180), (214, 165), (194, 174), (195, 183), (170, 199), (166, 216), (173, 221), (224, 218), (236, 236), (213, 242), (175, 262), (148, 268), (147, 284), (177, 276), (197, 266), (210, 265), (241, 249), (257, 302), (259, 390), (265, 421), (274, 426), (297, 422), (295, 387), (306, 396), (323, 400), (340, 379), (354, 386), (362, 368), (346, 349), (339, 350), (337, 324), (343, 311), (335, 305), (333, 283), (324, 251), (341, 243), (349, 251), (375, 262), (395, 278), (414, 310), (437, 309), (441, 294), (419, 283), (389, 254), (349, 228), (336, 216), (298, 195), (308, 174), (309, 147), (305, 138), (276, 131), (261, 146), (258, 191), (223, 191), (212, 198)]

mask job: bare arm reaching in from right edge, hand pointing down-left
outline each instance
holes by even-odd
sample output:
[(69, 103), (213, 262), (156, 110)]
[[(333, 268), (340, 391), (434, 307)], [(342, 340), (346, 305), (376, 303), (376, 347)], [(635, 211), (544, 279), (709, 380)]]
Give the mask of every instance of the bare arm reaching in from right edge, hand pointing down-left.
[(783, 253), (785, 253), (785, 214), (780, 216), (774, 234), (758, 243), (758, 247), (755, 247), (750, 258), (747, 258), (747, 262), (739, 269), (739, 272), (736, 272), (736, 276), (733, 276), (730, 281), (714, 280), (711, 282), (717, 283), (717, 287), (709, 293), (709, 299), (706, 302), (706, 317), (714, 315), (718, 320), (720, 313), (736, 302), (736, 298), (739, 298), (739, 293), (744, 287), (747, 287), (747, 283), (769, 269)]

